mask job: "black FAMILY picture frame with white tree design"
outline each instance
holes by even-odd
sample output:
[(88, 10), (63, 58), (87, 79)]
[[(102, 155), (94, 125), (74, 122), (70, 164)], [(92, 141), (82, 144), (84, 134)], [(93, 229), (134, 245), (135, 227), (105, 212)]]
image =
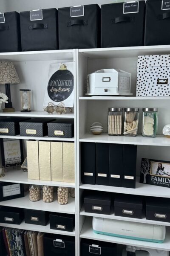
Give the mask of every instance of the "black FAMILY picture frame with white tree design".
[(142, 158), (140, 183), (170, 187), (170, 162)]

